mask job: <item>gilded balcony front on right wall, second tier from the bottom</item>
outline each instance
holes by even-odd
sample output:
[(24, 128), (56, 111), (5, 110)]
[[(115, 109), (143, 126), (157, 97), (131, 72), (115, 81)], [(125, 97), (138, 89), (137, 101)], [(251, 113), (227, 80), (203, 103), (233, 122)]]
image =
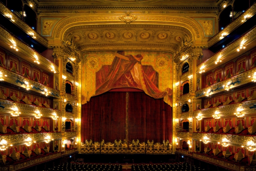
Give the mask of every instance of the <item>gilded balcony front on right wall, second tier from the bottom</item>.
[(204, 136), (209, 138), (210, 142), (217, 143), (222, 142), (223, 138), (228, 139), (228, 144), (234, 146), (241, 146), (247, 144), (247, 142), (251, 139), (253, 142), (256, 142), (256, 136), (245, 136), (245, 135), (234, 135), (234, 134), (206, 134), (193, 132), (192, 139), (193, 140), (202, 140)]

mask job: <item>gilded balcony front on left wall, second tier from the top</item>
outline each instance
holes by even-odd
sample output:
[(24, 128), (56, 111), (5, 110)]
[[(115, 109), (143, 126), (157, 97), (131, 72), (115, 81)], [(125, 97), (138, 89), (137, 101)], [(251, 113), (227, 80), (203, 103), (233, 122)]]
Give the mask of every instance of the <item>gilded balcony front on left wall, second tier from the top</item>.
[[(5, 29), (0, 27), (0, 40), (4, 41), (6, 44), (9, 44), (10, 46), (13, 45), (12, 41), (14, 41), (17, 45), (17, 49), (20, 53), (24, 54), (26, 57), (30, 58), (31, 61), (35, 60), (34, 55), (37, 55), (38, 61), (40, 62), (40, 65), (45, 66), (48, 69), (48, 72), (52, 72), (51, 66), (54, 66), (56, 74), (59, 74), (59, 66), (52, 63), (36, 51), (32, 50), (29, 46), (21, 42), (19, 39), (16, 39), (16, 37), (12, 36), (10, 33), (8, 33)], [(15, 51), (16, 52), (16, 51)], [(40, 66), (39, 66), (40, 68)]]

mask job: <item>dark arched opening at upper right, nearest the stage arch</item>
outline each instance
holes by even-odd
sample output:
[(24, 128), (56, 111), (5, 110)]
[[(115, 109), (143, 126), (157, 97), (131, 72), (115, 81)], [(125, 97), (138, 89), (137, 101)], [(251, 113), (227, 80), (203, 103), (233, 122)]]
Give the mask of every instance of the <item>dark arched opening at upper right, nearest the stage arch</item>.
[(219, 15), (219, 31), (221, 31), (222, 28), (225, 28), (230, 22), (232, 22), (232, 6), (227, 6), (223, 11), (221, 11), (221, 14)]

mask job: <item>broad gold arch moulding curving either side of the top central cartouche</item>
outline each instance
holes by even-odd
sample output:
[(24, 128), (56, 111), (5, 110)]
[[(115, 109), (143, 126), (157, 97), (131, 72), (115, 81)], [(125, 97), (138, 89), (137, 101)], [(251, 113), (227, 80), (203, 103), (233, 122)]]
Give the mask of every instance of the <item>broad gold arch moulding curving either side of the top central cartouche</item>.
[[(154, 20), (153, 20), (154, 18)], [(119, 19), (119, 16), (109, 15), (105, 17), (100, 16), (91, 16), (91, 17), (65, 17), (61, 19), (58, 24), (56, 24), (53, 29), (52, 35), (54, 40), (60, 41), (65, 38), (65, 32), (72, 28), (78, 26), (97, 26), (97, 25), (125, 25), (124, 21)], [(192, 34), (193, 41), (201, 40), (203, 35), (203, 30), (200, 25), (193, 19), (189, 17), (172, 17), (172, 16), (139, 16), (137, 15), (137, 20), (133, 21), (133, 24), (152, 24), (152, 25), (161, 25), (161, 26), (179, 26), (182, 28), (186, 28)], [(49, 38), (51, 39), (51, 38)]]

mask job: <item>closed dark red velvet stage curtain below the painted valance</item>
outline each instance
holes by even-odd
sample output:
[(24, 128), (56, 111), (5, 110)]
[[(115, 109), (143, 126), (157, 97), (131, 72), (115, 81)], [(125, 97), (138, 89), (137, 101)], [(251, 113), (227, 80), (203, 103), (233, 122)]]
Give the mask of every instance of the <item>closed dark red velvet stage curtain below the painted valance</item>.
[[(126, 138), (126, 92), (106, 92), (82, 105), (82, 142)], [(172, 111), (162, 99), (144, 92), (128, 93), (128, 141), (171, 142)]]

